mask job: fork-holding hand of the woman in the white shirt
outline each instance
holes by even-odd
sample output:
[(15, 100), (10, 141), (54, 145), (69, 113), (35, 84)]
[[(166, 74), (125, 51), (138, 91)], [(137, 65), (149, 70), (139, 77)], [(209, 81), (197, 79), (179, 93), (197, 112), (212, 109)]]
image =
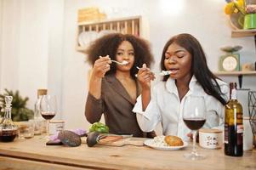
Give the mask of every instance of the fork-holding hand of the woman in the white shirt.
[(151, 81), (155, 80), (154, 73), (147, 68), (145, 64), (142, 65), (142, 68), (139, 69), (137, 74), (138, 81), (141, 85), (141, 88), (150, 89), (151, 88)]

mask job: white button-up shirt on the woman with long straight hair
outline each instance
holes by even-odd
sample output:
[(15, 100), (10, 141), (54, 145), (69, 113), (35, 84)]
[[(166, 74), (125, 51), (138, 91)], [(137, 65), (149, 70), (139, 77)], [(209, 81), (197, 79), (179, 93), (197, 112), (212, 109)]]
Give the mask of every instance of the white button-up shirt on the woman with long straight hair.
[[(229, 96), (229, 87), (225, 82), (217, 80), (221, 89), (222, 97), (227, 101)], [(134, 112), (137, 116), (139, 127), (145, 132), (151, 132), (155, 129), (158, 122), (162, 124), (163, 135), (175, 135), (184, 140), (191, 130), (185, 126), (182, 118), (183, 104), (187, 96), (203, 96), (207, 107), (207, 121), (203, 127), (223, 128), (224, 124), (224, 105), (219, 100), (213, 98), (204, 92), (203, 88), (196, 81), (196, 77), (191, 78), (189, 91), (184, 98), (179, 101), (178, 89), (174, 79), (168, 78), (167, 82), (158, 82), (151, 92), (151, 102), (142, 111), (141, 95), (137, 98), (134, 106)]]

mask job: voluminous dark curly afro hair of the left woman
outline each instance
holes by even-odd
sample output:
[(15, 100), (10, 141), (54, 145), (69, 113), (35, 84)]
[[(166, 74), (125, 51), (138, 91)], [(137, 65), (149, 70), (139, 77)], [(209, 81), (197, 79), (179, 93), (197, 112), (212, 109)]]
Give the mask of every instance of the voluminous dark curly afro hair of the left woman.
[[(140, 37), (135, 37), (130, 34), (111, 33), (96, 39), (87, 48), (86, 54), (88, 54), (88, 62), (94, 65), (94, 62), (99, 59), (100, 56), (109, 55), (111, 59), (116, 60), (117, 48), (123, 41), (130, 42), (134, 47), (134, 65), (131, 68), (131, 77), (135, 77), (138, 72), (136, 66), (141, 67), (144, 63), (147, 66), (151, 66), (154, 62), (153, 55), (151, 54), (151, 48), (149, 42)], [(111, 65), (111, 70), (105, 74), (115, 74), (117, 71), (116, 65)]]

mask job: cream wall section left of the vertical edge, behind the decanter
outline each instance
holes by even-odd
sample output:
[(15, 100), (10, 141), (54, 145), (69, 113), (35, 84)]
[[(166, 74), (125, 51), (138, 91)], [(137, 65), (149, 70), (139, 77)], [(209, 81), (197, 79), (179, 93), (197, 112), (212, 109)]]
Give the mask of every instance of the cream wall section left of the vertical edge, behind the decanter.
[(49, 94), (58, 95), (61, 110), (64, 1), (2, 0), (1, 4), (1, 93), (4, 88), (20, 90), (33, 109), (37, 88), (48, 88)]

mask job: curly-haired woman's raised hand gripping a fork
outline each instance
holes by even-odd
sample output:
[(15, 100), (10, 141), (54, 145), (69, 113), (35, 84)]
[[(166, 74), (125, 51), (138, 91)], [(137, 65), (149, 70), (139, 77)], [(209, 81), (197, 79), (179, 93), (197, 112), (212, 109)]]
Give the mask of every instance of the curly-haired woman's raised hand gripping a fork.
[(106, 71), (111, 70), (111, 58), (109, 55), (101, 57), (94, 62), (94, 68), (92, 71), (92, 77), (102, 78), (105, 77)]

